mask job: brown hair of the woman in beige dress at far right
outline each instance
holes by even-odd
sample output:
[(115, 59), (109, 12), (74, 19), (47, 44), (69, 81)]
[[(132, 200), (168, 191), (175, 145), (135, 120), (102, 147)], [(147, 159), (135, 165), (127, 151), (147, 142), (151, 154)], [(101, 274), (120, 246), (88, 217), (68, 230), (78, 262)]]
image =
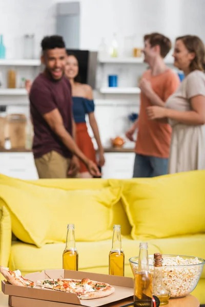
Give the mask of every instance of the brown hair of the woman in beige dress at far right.
[(176, 38), (181, 40), (189, 52), (195, 54), (194, 59), (190, 63), (190, 71), (200, 70), (205, 71), (205, 48), (202, 40), (195, 35), (185, 35)]

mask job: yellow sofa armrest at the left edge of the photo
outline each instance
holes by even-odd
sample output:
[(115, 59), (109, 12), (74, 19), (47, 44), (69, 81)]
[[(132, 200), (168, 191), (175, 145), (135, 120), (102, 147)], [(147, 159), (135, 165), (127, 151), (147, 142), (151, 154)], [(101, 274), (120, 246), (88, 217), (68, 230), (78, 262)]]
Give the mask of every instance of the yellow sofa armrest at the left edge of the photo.
[(11, 235), (11, 217), (7, 208), (2, 206), (0, 207), (0, 265), (4, 267), (9, 263)]

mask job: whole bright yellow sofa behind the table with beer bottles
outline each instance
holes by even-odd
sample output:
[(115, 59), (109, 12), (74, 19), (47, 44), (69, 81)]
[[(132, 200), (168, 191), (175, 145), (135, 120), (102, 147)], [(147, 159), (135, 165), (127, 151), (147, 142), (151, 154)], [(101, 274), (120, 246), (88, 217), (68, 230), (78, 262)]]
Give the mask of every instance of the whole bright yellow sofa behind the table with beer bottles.
[[(204, 182), (205, 171), (132, 180), (0, 175), (0, 265), (22, 275), (60, 269), (68, 223), (75, 224), (81, 271), (108, 273), (113, 224), (121, 225), (126, 276), (141, 240), (149, 254), (205, 258)], [(205, 270), (193, 295), (205, 303)]]

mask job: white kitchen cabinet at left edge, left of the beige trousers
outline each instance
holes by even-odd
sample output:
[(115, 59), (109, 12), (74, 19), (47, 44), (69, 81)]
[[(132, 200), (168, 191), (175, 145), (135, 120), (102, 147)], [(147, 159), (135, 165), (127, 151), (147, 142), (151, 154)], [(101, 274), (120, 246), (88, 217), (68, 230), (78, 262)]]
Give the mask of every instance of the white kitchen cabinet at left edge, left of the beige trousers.
[(32, 152), (0, 152), (0, 173), (23, 180), (38, 179)]

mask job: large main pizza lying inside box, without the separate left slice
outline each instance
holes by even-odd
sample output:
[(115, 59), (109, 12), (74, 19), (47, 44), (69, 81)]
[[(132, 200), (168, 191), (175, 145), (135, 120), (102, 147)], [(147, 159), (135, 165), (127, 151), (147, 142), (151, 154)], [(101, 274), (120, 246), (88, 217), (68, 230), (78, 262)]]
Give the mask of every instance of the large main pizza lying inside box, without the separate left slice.
[(105, 282), (83, 279), (45, 279), (37, 280), (36, 286), (58, 291), (75, 293), (79, 299), (93, 299), (112, 294), (115, 289)]

